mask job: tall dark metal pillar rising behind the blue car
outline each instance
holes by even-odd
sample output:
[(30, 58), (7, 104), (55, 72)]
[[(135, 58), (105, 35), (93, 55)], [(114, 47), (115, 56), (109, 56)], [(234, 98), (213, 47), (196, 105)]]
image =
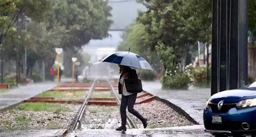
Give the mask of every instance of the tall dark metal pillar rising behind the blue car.
[(212, 1), (211, 95), (247, 85), (248, 0)]

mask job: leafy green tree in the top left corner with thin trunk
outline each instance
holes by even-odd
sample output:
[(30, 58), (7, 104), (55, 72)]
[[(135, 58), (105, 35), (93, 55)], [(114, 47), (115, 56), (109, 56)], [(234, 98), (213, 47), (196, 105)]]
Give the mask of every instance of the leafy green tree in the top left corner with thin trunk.
[[(43, 0), (43, 1), (32, 1), (32, 0), (25, 0), (25, 1), (18, 1), (18, 0), (3, 0), (0, 2), (0, 45), (2, 45), (3, 38), (8, 35), (8, 33), (11, 31), (11, 33), (14, 33), (16, 30), (14, 30), (13, 26), (17, 22), (19, 18), (23, 18), (24, 16), (29, 16), (33, 20), (36, 21), (43, 21), (45, 17), (45, 12), (49, 10), (50, 8), (50, 1)], [(12, 30), (10, 30), (12, 28)], [(19, 33), (21, 34), (21, 33)], [(12, 46), (15, 44), (15, 39), (13, 36), (11, 36)], [(21, 35), (18, 35), (18, 38), (22, 38)], [(8, 41), (8, 40), (6, 40)], [(10, 42), (10, 40), (9, 40)], [(6, 42), (8, 43), (8, 42)], [(18, 47), (16, 48), (16, 54), (18, 53)], [(9, 48), (8, 45), (3, 45), (1, 47), (1, 59), (3, 59), (3, 53), (6, 53), (4, 49)], [(18, 62), (19, 55), (16, 55), (16, 62)], [(3, 61), (2, 61), (2, 74), (3, 74)], [(3, 76), (2, 76), (2, 82), (3, 82)]]

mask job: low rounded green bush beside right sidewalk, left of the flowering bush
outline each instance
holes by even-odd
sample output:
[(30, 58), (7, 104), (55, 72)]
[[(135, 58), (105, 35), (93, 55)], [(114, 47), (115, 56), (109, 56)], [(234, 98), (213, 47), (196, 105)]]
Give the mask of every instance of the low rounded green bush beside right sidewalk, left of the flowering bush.
[(162, 77), (164, 89), (187, 89), (190, 83), (190, 77), (186, 73), (177, 73), (172, 76), (164, 75)]

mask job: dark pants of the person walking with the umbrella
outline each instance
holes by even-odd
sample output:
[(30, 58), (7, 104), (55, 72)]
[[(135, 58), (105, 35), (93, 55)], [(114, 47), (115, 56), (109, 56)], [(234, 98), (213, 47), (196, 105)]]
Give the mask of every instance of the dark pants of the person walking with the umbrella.
[(133, 109), (133, 105), (136, 101), (137, 93), (134, 93), (129, 96), (122, 95), (122, 101), (120, 105), (120, 113), (121, 113), (121, 119), (122, 119), (122, 126), (126, 125), (126, 107), (128, 106), (128, 111), (132, 113), (134, 116), (136, 116), (139, 120), (143, 121), (145, 118), (136, 110)]

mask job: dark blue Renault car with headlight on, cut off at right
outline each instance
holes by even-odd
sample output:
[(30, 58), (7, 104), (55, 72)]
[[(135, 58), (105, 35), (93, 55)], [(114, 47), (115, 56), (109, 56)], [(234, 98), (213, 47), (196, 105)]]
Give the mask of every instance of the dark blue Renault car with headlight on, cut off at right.
[(211, 96), (204, 109), (204, 126), (215, 136), (255, 136), (256, 83)]

